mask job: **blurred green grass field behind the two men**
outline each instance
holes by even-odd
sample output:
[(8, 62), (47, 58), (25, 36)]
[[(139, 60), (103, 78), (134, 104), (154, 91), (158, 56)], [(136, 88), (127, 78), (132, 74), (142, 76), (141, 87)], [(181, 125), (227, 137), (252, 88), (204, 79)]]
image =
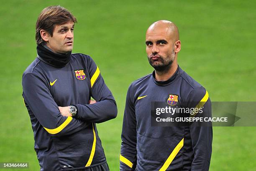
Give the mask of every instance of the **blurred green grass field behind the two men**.
[[(64, 6), (77, 17), (73, 52), (95, 60), (118, 104), (116, 119), (97, 124), (111, 171), (119, 170), (128, 86), (153, 71), (145, 32), (156, 20), (177, 24), (179, 65), (206, 87), (212, 101), (256, 101), (253, 0), (8, 0), (0, 5), (0, 162), (29, 162), (28, 170), (39, 170), (21, 77), (36, 57), (37, 17), (50, 5)], [(256, 127), (214, 127), (210, 171), (255, 171), (255, 134)]]

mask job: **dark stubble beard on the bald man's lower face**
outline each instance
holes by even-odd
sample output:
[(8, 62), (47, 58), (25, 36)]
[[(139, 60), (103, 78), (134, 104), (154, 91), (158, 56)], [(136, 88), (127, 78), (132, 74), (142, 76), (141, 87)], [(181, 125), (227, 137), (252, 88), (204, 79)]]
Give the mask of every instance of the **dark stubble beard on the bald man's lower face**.
[(165, 74), (171, 69), (172, 63), (174, 62), (175, 52), (174, 46), (172, 47), (171, 55), (167, 55), (167, 57), (162, 57), (159, 55), (159, 60), (154, 61), (148, 57), (149, 64), (158, 72), (159, 74)]

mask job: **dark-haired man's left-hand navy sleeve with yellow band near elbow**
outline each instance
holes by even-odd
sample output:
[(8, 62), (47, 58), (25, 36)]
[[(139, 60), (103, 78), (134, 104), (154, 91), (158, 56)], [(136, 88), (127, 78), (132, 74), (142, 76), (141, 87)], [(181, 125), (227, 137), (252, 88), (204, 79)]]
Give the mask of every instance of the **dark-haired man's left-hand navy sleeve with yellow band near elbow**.
[(90, 123), (61, 115), (47, 85), (40, 74), (23, 74), (24, 102), (44, 129), (52, 136), (65, 136), (86, 128)]

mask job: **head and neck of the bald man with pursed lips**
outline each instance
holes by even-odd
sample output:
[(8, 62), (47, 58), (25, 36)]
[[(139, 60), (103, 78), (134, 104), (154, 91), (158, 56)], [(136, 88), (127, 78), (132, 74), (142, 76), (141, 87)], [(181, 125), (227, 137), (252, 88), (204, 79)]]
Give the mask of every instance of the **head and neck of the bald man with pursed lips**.
[(148, 27), (146, 32), (148, 62), (154, 67), (156, 77), (166, 76), (160, 80), (167, 80), (176, 71), (180, 45), (179, 30), (173, 22), (160, 20)]

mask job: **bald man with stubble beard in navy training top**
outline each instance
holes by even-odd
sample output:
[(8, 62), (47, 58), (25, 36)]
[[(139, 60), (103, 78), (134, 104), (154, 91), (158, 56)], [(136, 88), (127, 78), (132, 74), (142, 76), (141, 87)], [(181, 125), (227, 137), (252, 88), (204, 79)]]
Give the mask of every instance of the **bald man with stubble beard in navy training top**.
[(211, 102), (206, 89), (177, 63), (180, 49), (179, 31), (173, 22), (160, 20), (148, 28), (146, 52), (154, 71), (137, 79), (128, 88), (120, 171), (209, 170), (211, 126), (195, 126), (194, 122), (173, 126), (157, 121), (164, 114), (154, 117), (154, 112), (161, 109), (156, 109), (159, 103), (166, 107), (201, 110), (193, 114), (174, 112), (172, 116), (211, 116)]

